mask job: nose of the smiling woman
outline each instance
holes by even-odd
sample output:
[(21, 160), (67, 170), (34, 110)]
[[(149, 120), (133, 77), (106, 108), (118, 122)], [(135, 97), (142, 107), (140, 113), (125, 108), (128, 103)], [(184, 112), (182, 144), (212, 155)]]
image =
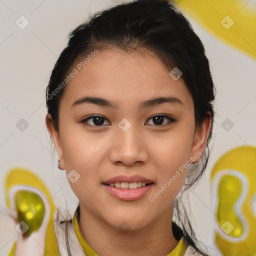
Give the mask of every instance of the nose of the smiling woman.
[(117, 134), (111, 142), (110, 161), (113, 164), (131, 166), (142, 164), (148, 160), (148, 148), (143, 135), (131, 127)]

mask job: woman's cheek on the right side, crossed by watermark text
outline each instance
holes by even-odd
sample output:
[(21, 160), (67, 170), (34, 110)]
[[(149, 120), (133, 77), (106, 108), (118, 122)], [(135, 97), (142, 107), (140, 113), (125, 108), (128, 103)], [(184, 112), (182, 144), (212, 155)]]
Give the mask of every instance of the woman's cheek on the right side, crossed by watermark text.
[(158, 138), (158, 143), (150, 145), (157, 156), (154, 157), (157, 160), (157, 184), (149, 195), (149, 201), (154, 206), (168, 207), (183, 186), (190, 163), (193, 132), (189, 125), (180, 125)]

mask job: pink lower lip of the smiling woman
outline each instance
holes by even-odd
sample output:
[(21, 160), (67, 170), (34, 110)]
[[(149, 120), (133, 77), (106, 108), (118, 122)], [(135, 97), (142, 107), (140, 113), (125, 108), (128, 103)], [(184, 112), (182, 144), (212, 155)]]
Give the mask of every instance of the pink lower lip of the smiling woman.
[(153, 183), (148, 184), (146, 186), (141, 186), (135, 189), (131, 188), (117, 188), (114, 186), (109, 186), (102, 184), (103, 187), (106, 189), (110, 195), (114, 196), (115, 198), (118, 198), (120, 200), (124, 201), (133, 201), (137, 200), (141, 197), (143, 197), (145, 194), (149, 192), (151, 187), (153, 186)]

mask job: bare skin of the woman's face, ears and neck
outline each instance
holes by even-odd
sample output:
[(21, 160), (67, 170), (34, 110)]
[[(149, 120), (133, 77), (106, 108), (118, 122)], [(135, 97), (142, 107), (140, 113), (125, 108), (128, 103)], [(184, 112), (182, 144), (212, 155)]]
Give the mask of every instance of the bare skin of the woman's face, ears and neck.
[[(169, 71), (146, 51), (99, 51), (66, 85), (59, 104), (59, 131), (53, 128), (50, 114), (46, 115), (62, 168), (67, 174), (75, 169), (80, 175), (69, 184), (79, 199), (81, 233), (102, 256), (120, 252), (124, 256), (167, 255), (178, 243), (171, 230), (173, 201), (187, 169), (154, 202), (149, 196), (196, 152), (200, 156), (192, 163), (199, 160), (211, 117), (209, 114), (200, 128), (195, 127), (192, 97), (182, 77), (174, 80)], [(75, 100), (87, 95), (116, 101), (119, 108), (92, 103), (72, 107)], [(183, 105), (162, 103), (138, 109), (139, 102), (156, 96), (175, 96)], [(103, 125), (95, 125), (93, 119), (87, 125), (80, 123), (90, 114), (106, 118)], [(157, 125), (150, 118), (155, 114), (176, 121), (164, 119)], [(125, 132), (118, 127), (123, 118), (131, 123)], [(154, 185), (142, 198), (123, 201), (101, 184), (120, 174), (139, 174)], [(125, 231), (119, 228), (123, 221)]]

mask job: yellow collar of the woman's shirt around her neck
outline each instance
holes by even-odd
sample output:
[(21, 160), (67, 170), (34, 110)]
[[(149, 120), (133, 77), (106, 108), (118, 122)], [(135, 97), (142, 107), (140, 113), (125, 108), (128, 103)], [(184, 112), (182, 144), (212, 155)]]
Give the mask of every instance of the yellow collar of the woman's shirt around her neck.
[[(74, 216), (73, 216), (73, 226), (74, 226), (74, 230), (75, 230), (77, 239), (82, 247), (83, 252), (89, 256), (90, 255), (98, 256), (98, 254), (88, 245), (88, 243), (83, 238), (81, 231), (79, 229), (79, 224), (77, 221), (76, 214), (74, 214)], [(175, 246), (175, 248), (170, 253), (168, 253), (166, 256), (183, 256), (186, 248), (187, 248), (187, 245), (182, 236), (180, 238), (178, 244)]]

